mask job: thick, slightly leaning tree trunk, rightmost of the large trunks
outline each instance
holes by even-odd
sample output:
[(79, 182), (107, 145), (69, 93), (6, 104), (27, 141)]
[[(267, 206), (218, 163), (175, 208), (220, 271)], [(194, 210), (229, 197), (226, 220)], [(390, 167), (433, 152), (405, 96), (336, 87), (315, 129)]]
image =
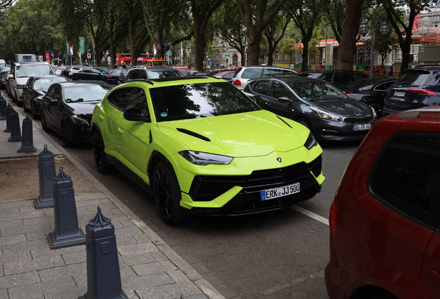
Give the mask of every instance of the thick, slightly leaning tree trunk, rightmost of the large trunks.
[(356, 51), (356, 36), (362, 16), (364, 0), (347, 0), (345, 3), (345, 19), (339, 44), (338, 60), (335, 69), (353, 69), (353, 57)]

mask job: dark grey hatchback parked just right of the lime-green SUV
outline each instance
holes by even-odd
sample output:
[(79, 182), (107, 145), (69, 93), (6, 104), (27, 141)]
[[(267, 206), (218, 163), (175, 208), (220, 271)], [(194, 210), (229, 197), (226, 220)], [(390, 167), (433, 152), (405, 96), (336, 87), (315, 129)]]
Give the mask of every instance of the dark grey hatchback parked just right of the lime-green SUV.
[(363, 139), (377, 119), (368, 105), (313, 78), (261, 78), (243, 91), (263, 109), (308, 127), (320, 141)]

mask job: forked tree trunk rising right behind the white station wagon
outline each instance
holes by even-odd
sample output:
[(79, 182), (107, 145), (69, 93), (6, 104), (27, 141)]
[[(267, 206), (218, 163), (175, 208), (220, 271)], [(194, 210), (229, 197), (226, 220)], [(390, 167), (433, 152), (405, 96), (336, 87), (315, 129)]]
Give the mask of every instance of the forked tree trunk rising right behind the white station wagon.
[(248, 31), (248, 65), (259, 64), (259, 44), (262, 42), (262, 32), (269, 22), (284, 6), (286, 0), (256, 0), (256, 5), (251, 0), (237, 0), (237, 8), (244, 20)]

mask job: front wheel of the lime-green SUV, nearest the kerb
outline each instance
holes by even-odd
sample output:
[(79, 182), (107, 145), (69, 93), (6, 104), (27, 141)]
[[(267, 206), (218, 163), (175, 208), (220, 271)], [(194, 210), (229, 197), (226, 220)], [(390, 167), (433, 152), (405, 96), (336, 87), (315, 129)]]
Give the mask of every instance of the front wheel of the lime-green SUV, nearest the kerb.
[(154, 167), (151, 186), (156, 208), (165, 224), (181, 224), (185, 220), (180, 206), (181, 188), (174, 172), (162, 161)]

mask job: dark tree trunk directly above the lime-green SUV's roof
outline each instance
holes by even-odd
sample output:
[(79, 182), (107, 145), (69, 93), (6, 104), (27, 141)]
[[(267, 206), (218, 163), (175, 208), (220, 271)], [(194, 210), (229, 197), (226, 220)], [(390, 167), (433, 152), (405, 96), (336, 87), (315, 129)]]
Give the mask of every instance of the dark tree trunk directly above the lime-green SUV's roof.
[(205, 33), (208, 22), (214, 11), (219, 8), (223, 0), (191, 0), (192, 17), (194, 19), (194, 67), (203, 69), (205, 57)]

